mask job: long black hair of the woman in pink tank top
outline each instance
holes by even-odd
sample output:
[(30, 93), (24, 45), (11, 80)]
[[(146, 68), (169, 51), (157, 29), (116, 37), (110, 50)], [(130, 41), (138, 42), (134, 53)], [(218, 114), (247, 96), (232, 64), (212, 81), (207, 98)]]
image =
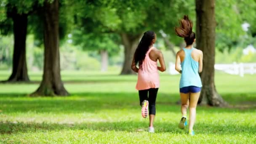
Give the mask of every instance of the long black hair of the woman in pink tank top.
[(140, 68), (145, 59), (146, 53), (149, 50), (149, 46), (152, 44), (153, 39), (155, 39), (155, 32), (144, 32), (144, 35), (141, 38), (138, 47), (136, 48), (136, 51), (134, 53), (134, 61), (136, 65), (139, 64)]

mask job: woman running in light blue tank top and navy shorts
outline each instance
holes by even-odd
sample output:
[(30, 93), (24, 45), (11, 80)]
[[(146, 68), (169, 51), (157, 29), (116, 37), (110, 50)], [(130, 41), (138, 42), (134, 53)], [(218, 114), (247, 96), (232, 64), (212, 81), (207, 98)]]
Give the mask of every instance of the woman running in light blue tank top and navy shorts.
[(185, 48), (176, 54), (175, 69), (181, 73), (179, 83), (181, 96), (181, 120), (179, 128), (184, 129), (187, 125), (187, 107), (189, 106), (189, 134), (195, 135), (193, 126), (196, 117), (197, 101), (200, 96), (202, 82), (199, 72), (203, 70), (203, 52), (193, 48), (195, 33), (192, 32), (192, 21), (188, 16), (180, 20), (180, 27), (175, 28), (179, 37), (184, 37), (187, 44)]

